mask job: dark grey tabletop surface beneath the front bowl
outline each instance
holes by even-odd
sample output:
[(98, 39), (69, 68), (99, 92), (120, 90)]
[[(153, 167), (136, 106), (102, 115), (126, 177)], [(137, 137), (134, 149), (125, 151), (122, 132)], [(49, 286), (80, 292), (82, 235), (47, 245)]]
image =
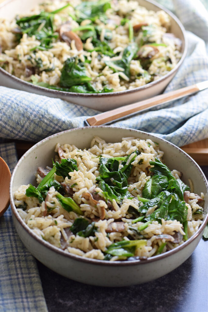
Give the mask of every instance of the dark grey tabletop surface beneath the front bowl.
[[(206, 177), (208, 167), (202, 167)], [(98, 287), (69, 280), (37, 261), (49, 312), (207, 312), (208, 241), (169, 274), (141, 285)]]

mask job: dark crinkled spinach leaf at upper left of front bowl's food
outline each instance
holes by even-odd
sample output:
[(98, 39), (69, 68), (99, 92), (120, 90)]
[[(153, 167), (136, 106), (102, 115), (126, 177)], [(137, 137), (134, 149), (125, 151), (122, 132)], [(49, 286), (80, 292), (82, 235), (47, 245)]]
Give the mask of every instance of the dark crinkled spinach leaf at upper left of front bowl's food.
[(61, 159), (61, 163), (56, 161), (56, 163), (53, 162), (53, 165), (56, 167), (56, 174), (64, 179), (65, 177), (70, 179), (70, 172), (78, 171), (77, 161), (73, 158)]

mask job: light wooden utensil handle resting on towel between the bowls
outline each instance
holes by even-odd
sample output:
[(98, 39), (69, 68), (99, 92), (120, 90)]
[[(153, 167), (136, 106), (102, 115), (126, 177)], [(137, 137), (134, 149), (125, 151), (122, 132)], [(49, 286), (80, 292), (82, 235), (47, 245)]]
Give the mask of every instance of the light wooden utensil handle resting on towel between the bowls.
[(154, 96), (151, 99), (143, 100), (143, 101), (129, 104), (126, 106), (122, 106), (114, 110), (109, 110), (107, 112), (87, 118), (86, 123), (89, 126), (98, 126), (101, 124), (108, 124), (113, 120), (118, 120), (126, 116), (134, 115), (138, 111), (145, 110), (149, 107), (153, 107), (155, 105), (162, 104), (162, 103), (167, 103), (172, 100), (177, 100), (186, 95), (190, 95), (192, 93), (200, 91), (202, 89), (199, 87), (199, 85), (200, 84), (191, 85), (191, 86), (181, 88), (175, 91), (171, 91), (168, 93)]

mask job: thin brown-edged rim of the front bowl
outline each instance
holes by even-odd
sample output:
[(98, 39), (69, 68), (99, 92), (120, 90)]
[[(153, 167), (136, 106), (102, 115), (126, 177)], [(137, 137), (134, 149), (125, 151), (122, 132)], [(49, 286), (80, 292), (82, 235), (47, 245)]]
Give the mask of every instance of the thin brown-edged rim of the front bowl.
[(172, 146), (173, 148), (177, 149), (180, 153), (182, 153), (186, 158), (188, 158), (192, 164), (194, 166), (196, 166), (197, 170), (199, 171), (200, 175), (201, 175), (201, 178), (203, 179), (203, 182), (205, 183), (205, 186), (206, 186), (206, 189), (207, 189), (207, 192), (208, 192), (208, 182), (207, 182), (207, 179), (203, 173), (203, 171), (201, 170), (201, 168), (199, 167), (199, 165), (195, 162), (194, 159), (192, 159), (188, 154), (186, 154), (182, 149), (180, 149), (179, 147), (177, 147), (175, 144), (172, 144), (170, 143), (169, 141), (165, 140), (165, 139), (162, 139), (162, 138), (159, 138), (157, 136), (155, 136), (154, 134), (149, 134), (147, 132), (144, 132), (144, 131), (140, 131), (140, 130), (137, 130), (137, 129), (130, 129), (130, 128), (122, 128), (122, 127), (112, 127), (112, 126), (91, 126), (91, 127), (80, 127), (80, 128), (74, 128), (74, 129), (69, 129), (69, 130), (64, 130), (64, 131), (61, 131), (61, 132), (58, 132), (56, 134), (52, 134), (51, 136), (45, 138), (45, 139), (42, 139), (41, 141), (37, 142), (35, 145), (33, 145), (20, 159), (19, 161), (17, 162), (13, 172), (12, 172), (12, 177), (11, 177), (11, 180), (10, 180), (10, 186), (9, 186), (9, 192), (10, 192), (10, 204), (11, 204), (11, 209), (12, 209), (12, 214), (13, 214), (13, 217), (15, 216), (17, 221), (19, 222), (19, 224), (24, 228), (24, 230), (32, 236), (33, 239), (35, 239), (38, 243), (40, 243), (42, 246), (50, 249), (52, 252), (56, 252), (58, 253), (59, 255), (61, 256), (65, 256), (66, 258), (70, 258), (74, 261), (81, 261), (81, 262), (85, 262), (85, 263), (89, 263), (89, 264), (96, 264), (96, 265), (104, 265), (104, 266), (129, 266), (129, 265), (141, 265), (141, 264), (147, 264), (147, 263), (150, 263), (150, 262), (154, 262), (154, 261), (157, 261), (157, 260), (160, 260), (160, 259), (164, 259), (164, 258), (167, 258), (168, 256), (171, 256), (173, 254), (175, 254), (176, 252), (184, 249), (186, 246), (188, 246), (192, 241), (194, 241), (200, 234), (202, 236), (202, 231), (204, 231), (204, 228), (208, 222), (208, 212), (207, 212), (207, 215), (204, 217), (204, 220), (203, 220), (203, 223), (201, 224), (201, 226), (199, 227), (199, 229), (196, 231), (196, 233), (191, 236), (187, 241), (185, 241), (183, 244), (177, 246), (176, 248), (170, 250), (170, 251), (167, 251), (163, 254), (160, 254), (160, 255), (157, 255), (157, 256), (152, 256), (152, 257), (149, 257), (145, 260), (132, 260), (132, 261), (128, 261), (128, 260), (124, 260), (124, 261), (105, 261), (105, 260), (98, 260), (98, 259), (89, 259), (89, 258), (84, 258), (82, 256), (78, 256), (78, 255), (75, 255), (75, 254), (71, 254), (71, 253), (68, 253), (68, 252), (65, 252), (64, 250), (56, 247), (56, 246), (53, 246), (51, 245), (49, 242), (47, 241), (44, 241), (43, 239), (41, 239), (39, 236), (37, 236), (28, 226), (27, 224), (23, 221), (23, 219), (20, 217), (19, 213), (17, 212), (17, 208), (14, 204), (14, 196), (13, 196), (13, 193), (12, 193), (12, 183), (13, 183), (13, 178), (15, 176), (15, 172), (17, 170), (17, 168), (19, 167), (19, 163), (21, 163), (23, 161), (23, 159), (25, 158), (25, 156), (27, 154), (30, 154), (31, 151), (33, 151), (34, 149), (36, 149), (39, 145), (43, 144), (45, 141), (48, 141), (50, 139), (52, 139), (53, 137), (56, 137), (56, 136), (59, 136), (61, 134), (64, 134), (64, 133), (69, 133), (69, 132), (73, 132), (73, 131), (77, 131), (77, 130), (86, 130), (86, 129), (96, 129), (96, 128), (114, 128), (114, 129), (125, 129), (125, 130), (131, 130), (135, 133), (138, 133), (138, 137), (139, 137), (139, 134), (145, 134), (147, 136), (153, 136), (156, 140), (161, 140), (162, 142), (165, 142), (166, 144)]

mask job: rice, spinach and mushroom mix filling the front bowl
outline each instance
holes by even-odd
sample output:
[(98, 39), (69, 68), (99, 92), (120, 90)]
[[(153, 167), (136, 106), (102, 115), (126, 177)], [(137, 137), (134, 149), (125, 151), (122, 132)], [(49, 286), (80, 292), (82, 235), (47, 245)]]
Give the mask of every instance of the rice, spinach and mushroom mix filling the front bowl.
[(50, 244), (85, 258), (143, 260), (181, 245), (200, 227), (204, 194), (162, 163), (151, 139), (92, 139), (89, 149), (57, 144), (37, 183), (14, 193), (27, 226)]

